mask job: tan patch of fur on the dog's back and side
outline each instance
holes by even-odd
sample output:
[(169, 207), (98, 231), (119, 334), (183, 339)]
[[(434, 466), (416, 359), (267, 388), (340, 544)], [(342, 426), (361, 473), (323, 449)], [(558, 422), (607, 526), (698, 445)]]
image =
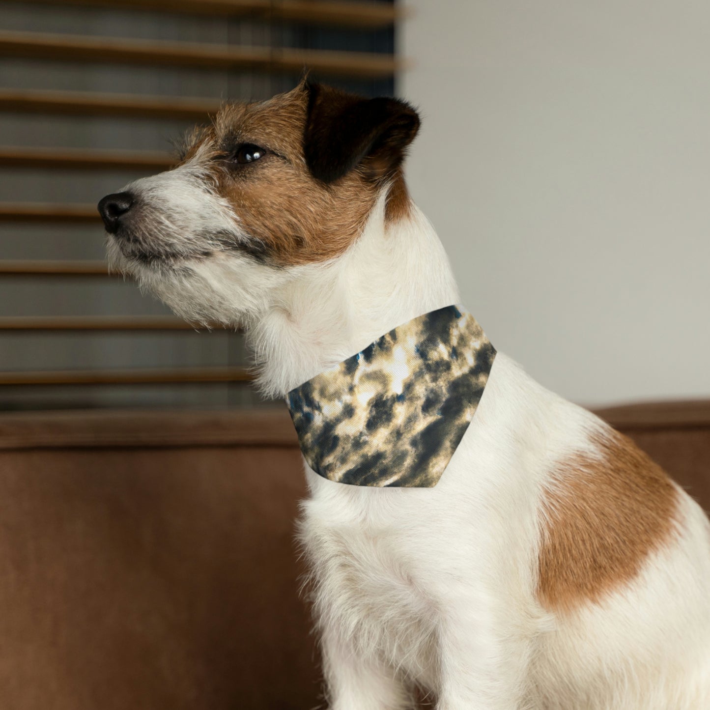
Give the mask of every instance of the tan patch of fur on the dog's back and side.
[(618, 432), (596, 442), (601, 456), (577, 454), (558, 466), (546, 491), (538, 596), (556, 611), (628, 584), (674, 531), (677, 490)]

